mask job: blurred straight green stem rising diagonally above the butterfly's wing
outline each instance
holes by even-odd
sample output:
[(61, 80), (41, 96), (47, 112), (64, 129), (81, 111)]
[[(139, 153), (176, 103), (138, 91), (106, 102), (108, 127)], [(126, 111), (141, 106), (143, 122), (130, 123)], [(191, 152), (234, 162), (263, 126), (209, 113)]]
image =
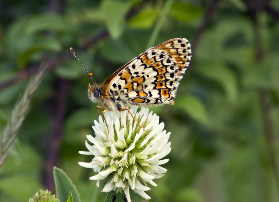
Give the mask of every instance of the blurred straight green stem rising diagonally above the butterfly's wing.
[(165, 19), (166, 19), (166, 16), (167, 16), (167, 14), (168, 14), (168, 12), (169, 12), (169, 10), (170, 10), (170, 7), (171, 7), (171, 5), (172, 5), (172, 2), (173, 2), (173, 0), (167, 0), (167, 1), (166, 1), (165, 5), (164, 5), (164, 7), (163, 7), (163, 9), (162, 9), (162, 11), (161, 11), (161, 13), (160, 13), (159, 19), (158, 19), (158, 21), (157, 21), (157, 23), (156, 23), (156, 25), (155, 25), (155, 27), (154, 27), (154, 29), (153, 29), (153, 31), (152, 31), (152, 34), (151, 34), (151, 36), (150, 36), (150, 39), (149, 39), (149, 41), (148, 41), (148, 43), (147, 43), (146, 50), (147, 50), (148, 48), (154, 46), (155, 41), (156, 41), (156, 39), (157, 39), (157, 37), (158, 37), (158, 35), (159, 35), (159, 32), (160, 32), (160, 30), (162, 29), (162, 26), (163, 26), (163, 24), (164, 24), (164, 21), (165, 21)]

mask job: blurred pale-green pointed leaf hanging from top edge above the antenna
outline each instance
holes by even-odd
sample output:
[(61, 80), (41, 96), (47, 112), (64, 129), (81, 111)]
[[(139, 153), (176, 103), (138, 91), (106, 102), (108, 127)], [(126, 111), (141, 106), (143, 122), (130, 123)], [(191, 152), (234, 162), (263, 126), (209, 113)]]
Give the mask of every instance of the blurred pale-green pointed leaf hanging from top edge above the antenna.
[(130, 8), (131, 3), (104, 0), (101, 4), (101, 11), (104, 16), (108, 32), (113, 39), (118, 39), (125, 29), (125, 15)]

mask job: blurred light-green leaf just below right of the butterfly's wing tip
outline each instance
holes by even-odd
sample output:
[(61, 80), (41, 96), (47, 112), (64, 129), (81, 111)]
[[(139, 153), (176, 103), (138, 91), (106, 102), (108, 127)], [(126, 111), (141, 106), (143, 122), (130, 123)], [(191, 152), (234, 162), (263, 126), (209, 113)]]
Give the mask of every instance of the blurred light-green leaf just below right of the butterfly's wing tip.
[(183, 109), (193, 119), (208, 124), (209, 118), (204, 104), (192, 95), (184, 95), (178, 97), (175, 101), (175, 106)]

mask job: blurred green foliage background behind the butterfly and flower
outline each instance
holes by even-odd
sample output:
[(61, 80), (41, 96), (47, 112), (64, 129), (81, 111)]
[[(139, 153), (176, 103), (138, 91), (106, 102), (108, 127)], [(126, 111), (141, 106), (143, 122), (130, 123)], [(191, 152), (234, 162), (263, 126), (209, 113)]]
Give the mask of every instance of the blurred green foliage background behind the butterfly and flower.
[[(89, 162), (85, 135), (98, 118), (87, 97), (98, 83), (153, 45), (183, 37), (192, 62), (174, 106), (153, 107), (171, 131), (166, 175), (151, 201), (278, 201), (279, 2), (249, 0), (1, 1), (0, 131), (33, 68), (49, 63), (31, 101), (18, 141), (0, 172), (0, 201), (28, 201), (55, 192), (53, 166), (77, 185), (82, 202), (105, 193), (78, 162)], [(150, 48), (150, 47), (149, 47)], [(142, 200), (136, 194), (131, 198)], [(117, 194), (116, 202), (122, 201)]]

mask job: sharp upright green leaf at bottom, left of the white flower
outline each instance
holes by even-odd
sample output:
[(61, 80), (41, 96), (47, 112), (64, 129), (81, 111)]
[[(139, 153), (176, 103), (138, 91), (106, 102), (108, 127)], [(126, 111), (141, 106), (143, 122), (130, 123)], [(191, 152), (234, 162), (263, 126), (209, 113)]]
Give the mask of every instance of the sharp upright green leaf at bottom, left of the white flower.
[(67, 174), (60, 168), (53, 168), (53, 176), (57, 197), (60, 201), (66, 201), (69, 193), (73, 193), (73, 200), (80, 202), (78, 190)]

